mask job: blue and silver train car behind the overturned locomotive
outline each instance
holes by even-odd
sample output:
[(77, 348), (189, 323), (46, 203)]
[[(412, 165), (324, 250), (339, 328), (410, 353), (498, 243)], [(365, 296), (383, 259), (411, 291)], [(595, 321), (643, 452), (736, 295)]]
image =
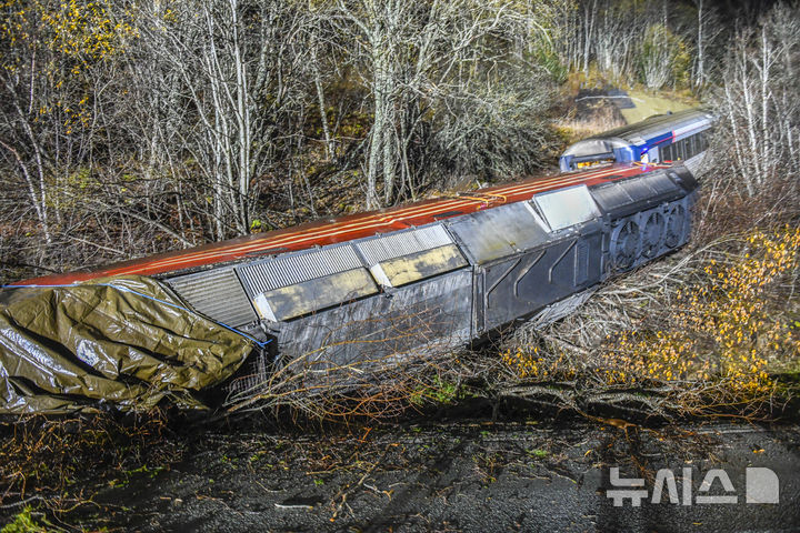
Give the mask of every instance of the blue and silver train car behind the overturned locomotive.
[(604, 163), (682, 161), (696, 170), (708, 149), (713, 115), (701, 109), (657, 114), (578, 141), (561, 154), (563, 172)]

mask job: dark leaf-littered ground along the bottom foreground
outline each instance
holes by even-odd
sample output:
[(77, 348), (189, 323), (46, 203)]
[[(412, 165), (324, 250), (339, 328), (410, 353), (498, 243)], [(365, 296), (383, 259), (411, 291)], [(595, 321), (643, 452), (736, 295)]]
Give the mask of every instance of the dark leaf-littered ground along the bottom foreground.
[[(606, 422), (460, 415), (322, 432), (186, 429), (171, 438), (176, 461), (97, 472), (70, 487), (91, 503), (50, 520), (149, 532), (800, 531), (800, 425)], [(648, 477), (641, 506), (613, 506), (611, 466)], [(776, 472), (779, 504), (746, 503), (748, 466)], [(692, 496), (737, 503), (672, 504), (664, 491), (652, 504), (663, 467), (681, 502), (689, 467)], [(711, 469), (724, 469), (732, 492), (720, 480), (700, 492)], [(18, 511), (1, 511), (0, 523)]]

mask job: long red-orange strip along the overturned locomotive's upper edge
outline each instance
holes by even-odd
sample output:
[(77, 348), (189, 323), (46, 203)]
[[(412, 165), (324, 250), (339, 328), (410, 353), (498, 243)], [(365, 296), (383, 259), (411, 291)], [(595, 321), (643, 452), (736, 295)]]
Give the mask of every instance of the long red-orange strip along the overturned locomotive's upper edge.
[(69, 272), (19, 281), (17, 285), (67, 284), (113, 275), (159, 275), (204, 270), (260, 255), (281, 254), (336, 244), (379, 233), (424, 225), (453, 217), (530, 200), (534, 194), (574, 185), (632, 178), (668, 164), (614, 164), (600, 170), (529, 178), (463, 194), (426, 200), (407, 205), (320, 220), (266, 233), (257, 233), (201, 247), (144, 257), (88, 272)]

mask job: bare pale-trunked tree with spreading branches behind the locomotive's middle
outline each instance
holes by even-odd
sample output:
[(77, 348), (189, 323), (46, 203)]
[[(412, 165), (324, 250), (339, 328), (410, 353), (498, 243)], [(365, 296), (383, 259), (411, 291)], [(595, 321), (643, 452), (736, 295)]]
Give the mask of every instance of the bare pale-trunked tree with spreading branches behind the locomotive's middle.
[[(410, 149), (420, 128), (430, 125), (426, 115), (446, 115), (449, 104), (470, 94), (486, 103), (487, 94), (471, 92), (472, 81), (484, 69), (502, 70), (516, 39), (528, 38), (531, 12), (504, 0), (339, 0), (337, 12), (340, 30), (354, 43), (353, 62), (369, 88), (374, 114), (366, 161), (367, 203), (389, 204), (401, 191), (413, 197), (419, 175)], [(482, 81), (497, 87), (500, 80)]]

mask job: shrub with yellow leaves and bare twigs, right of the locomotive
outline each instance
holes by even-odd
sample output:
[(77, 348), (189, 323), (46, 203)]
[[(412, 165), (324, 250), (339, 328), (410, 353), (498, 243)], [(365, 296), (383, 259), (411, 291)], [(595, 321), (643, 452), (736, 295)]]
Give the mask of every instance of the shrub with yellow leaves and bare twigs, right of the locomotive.
[(786, 292), (800, 265), (800, 228), (756, 230), (738, 242), (738, 251), (712, 249), (648, 304), (663, 311), (642, 313), (586, 353), (579, 341), (551, 334), (511, 344), (502, 363), (527, 382), (578, 378), (596, 389), (658, 389), (687, 413), (756, 409), (779, 389), (773, 371), (800, 360)]

